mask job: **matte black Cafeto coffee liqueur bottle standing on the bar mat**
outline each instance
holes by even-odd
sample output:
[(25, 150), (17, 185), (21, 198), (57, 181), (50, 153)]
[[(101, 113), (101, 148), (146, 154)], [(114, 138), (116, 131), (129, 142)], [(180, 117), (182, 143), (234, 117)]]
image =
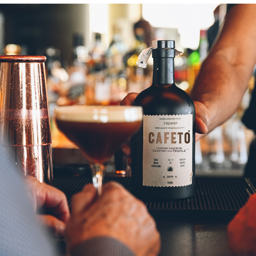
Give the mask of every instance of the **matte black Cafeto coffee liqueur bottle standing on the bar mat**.
[(132, 138), (132, 193), (144, 201), (194, 196), (195, 107), (174, 82), (175, 41), (152, 50), (153, 83), (134, 100), (143, 127)]

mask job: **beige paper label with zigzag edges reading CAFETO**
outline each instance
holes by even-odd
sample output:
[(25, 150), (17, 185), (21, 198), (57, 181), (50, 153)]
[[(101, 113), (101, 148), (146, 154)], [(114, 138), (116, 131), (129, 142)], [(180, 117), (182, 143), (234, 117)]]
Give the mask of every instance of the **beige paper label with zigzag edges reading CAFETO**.
[(193, 114), (143, 116), (143, 186), (192, 184)]

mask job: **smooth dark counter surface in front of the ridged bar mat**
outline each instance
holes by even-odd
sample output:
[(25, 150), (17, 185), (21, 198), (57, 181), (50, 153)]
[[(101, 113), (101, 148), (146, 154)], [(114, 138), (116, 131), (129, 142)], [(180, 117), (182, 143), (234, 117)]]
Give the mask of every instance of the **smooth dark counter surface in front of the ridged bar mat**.
[[(200, 215), (199, 215), (200, 216)], [(161, 234), (161, 256), (229, 256), (227, 217), (186, 214), (155, 217)]]

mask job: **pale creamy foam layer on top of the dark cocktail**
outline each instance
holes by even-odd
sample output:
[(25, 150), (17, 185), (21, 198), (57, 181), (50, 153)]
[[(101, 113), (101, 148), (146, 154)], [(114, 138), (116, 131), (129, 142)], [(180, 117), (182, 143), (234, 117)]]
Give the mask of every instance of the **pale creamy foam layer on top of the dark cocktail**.
[(57, 106), (54, 117), (69, 122), (136, 122), (142, 121), (143, 111), (135, 106)]

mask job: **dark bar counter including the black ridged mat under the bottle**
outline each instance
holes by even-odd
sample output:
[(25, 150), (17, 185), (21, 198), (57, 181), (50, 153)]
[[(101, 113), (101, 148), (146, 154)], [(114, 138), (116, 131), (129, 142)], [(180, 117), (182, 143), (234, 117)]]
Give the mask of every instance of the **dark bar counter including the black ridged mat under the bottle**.
[[(226, 228), (249, 196), (256, 192), (256, 181), (242, 177), (200, 176), (196, 178), (193, 198), (144, 202), (161, 234), (160, 256), (232, 255)], [(104, 182), (112, 180), (130, 190), (130, 177), (107, 172)], [(85, 163), (54, 165), (54, 186), (66, 194), (69, 205), (72, 195), (89, 182), (91, 172)]]

